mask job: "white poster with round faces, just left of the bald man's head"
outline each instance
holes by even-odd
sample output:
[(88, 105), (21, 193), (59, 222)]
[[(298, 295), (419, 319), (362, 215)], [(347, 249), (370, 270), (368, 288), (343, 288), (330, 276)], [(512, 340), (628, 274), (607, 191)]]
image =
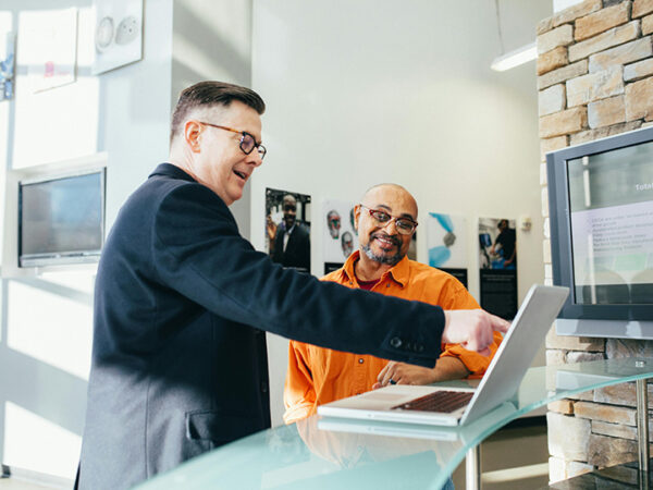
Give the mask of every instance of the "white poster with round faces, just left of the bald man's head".
[(322, 205), (322, 250), (324, 273), (340, 269), (358, 249), (358, 232), (354, 226), (354, 201), (326, 199)]

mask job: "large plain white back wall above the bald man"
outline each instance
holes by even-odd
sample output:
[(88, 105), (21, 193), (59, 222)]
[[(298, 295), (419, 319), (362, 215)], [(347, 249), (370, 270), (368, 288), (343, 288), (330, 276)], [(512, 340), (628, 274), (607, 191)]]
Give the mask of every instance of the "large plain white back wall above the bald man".
[[(322, 200), (358, 199), (373, 184), (396, 182), (415, 195), (422, 221), (427, 211), (468, 218), (477, 298), (479, 216), (532, 218), (533, 230), (518, 233), (519, 299), (543, 281), (534, 63), (490, 70), (501, 53), (493, 1), (254, 5), (252, 87), (268, 103), (269, 148), (251, 182), (259, 249), (266, 187), (312, 196), (311, 265), (321, 274)], [(507, 50), (531, 42), (537, 22), (551, 14), (550, 2), (507, 7), (504, 28), (532, 36), (504, 34)], [(426, 254), (426, 233), (418, 231), (418, 259)], [(269, 345), (279, 424), (286, 342), (272, 338)]]

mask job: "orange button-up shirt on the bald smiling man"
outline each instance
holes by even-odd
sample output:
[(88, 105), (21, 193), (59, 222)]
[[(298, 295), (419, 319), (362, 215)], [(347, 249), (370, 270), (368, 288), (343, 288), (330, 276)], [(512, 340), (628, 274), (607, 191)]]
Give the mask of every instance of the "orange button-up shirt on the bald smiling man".
[[(359, 287), (354, 265), (359, 258), (356, 250), (342, 269), (323, 278), (348, 287)], [(476, 299), (453, 275), (404, 257), (387, 270), (372, 287), (373, 292), (404, 299), (420, 301), (438, 305), (443, 309), (477, 309)], [(382, 324), (379, 326), (383, 328)], [(496, 352), (502, 336), (494, 333), (490, 346)], [(469, 378), (481, 378), (492, 359), (467, 351), (459, 344), (443, 344), (442, 356), (457, 357), (471, 372)], [(318, 405), (341, 400), (371, 390), (387, 359), (367, 354), (352, 354), (322, 348), (303, 342), (291, 341), (288, 370), (284, 389), (286, 424), (316, 413)]]

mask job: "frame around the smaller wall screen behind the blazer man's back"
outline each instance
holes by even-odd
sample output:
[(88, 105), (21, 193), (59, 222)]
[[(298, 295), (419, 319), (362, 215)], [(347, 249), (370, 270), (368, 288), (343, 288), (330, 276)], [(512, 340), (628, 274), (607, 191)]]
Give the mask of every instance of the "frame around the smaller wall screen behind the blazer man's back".
[[(100, 176), (100, 247), (97, 249), (87, 250), (71, 250), (63, 253), (50, 253), (50, 254), (23, 254), (23, 187), (26, 185), (42, 184), (47, 182), (61, 181), (65, 179), (73, 179), (86, 175), (99, 174)], [(95, 167), (90, 169), (82, 169), (67, 172), (58, 172), (48, 175), (40, 175), (38, 177), (24, 179), (19, 181), (19, 194), (17, 194), (17, 211), (19, 211), (19, 226), (17, 226), (17, 255), (19, 255), (19, 267), (47, 267), (47, 266), (64, 266), (64, 265), (79, 265), (79, 264), (94, 264), (99, 261), (101, 249), (104, 246), (104, 224), (106, 224), (106, 186), (107, 186), (107, 167)]]

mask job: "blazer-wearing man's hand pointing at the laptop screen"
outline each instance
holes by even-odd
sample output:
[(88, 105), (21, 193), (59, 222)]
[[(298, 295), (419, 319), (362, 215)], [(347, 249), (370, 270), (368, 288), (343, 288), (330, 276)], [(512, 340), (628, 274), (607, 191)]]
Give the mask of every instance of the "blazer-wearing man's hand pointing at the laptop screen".
[(446, 318), (442, 342), (460, 344), (468, 351), (489, 356), (493, 332), (505, 333), (510, 322), (482, 309), (456, 309), (444, 311)]

